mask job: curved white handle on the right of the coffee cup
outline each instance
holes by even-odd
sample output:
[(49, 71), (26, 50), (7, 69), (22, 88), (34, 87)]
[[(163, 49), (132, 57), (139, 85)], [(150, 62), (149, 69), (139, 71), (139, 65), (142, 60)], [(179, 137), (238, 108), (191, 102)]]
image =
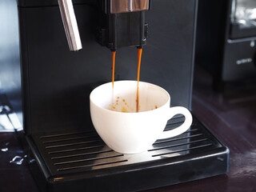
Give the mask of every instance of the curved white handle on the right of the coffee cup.
[(174, 130), (166, 130), (162, 132), (160, 137), (158, 139), (164, 139), (164, 138), (172, 138), (177, 136), (178, 134), (183, 134), (186, 130), (188, 130), (192, 124), (193, 118), (190, 114), (190, 111), (187, 110), (183, 106), (174, 106), (168, 109), (169, 111), (169, 118), (173, 118), (175, 114), (183, 114), (185, 116), (185, 122), (182, 123), (181, 126), (178, 126)]

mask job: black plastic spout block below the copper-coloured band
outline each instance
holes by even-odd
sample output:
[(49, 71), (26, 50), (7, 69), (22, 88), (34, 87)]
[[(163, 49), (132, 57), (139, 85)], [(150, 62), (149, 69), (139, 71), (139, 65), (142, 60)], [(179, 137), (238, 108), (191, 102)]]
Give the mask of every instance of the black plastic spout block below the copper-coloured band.
[(118, 48), (146, 45), (145, 11), (105, 14), (98, 31), (98, 42), (115, 51)]

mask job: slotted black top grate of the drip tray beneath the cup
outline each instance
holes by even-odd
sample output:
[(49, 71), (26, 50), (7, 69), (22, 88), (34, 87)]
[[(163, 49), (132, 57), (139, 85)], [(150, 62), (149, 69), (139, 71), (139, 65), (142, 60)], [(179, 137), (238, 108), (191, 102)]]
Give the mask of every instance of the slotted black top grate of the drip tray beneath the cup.
[[(166, 130), (174, 129), (183, 121), (184, 118), (174, 118)], [(174, 138), (158, 140), (141, 154), (117, 153), (106, 146), (95, 131), (36, 134), (32, 138), (51, 176), (207, 153), (222, 147), (196, 118), (190, 130)]]

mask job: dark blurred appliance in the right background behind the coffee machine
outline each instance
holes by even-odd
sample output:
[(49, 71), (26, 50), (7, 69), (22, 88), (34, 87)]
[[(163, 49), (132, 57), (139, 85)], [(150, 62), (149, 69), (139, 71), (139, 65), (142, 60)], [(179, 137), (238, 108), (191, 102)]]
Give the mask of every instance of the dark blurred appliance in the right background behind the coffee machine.
[(195, 61), (213, 74), (215, 90), (255, 84), (255, 15), (254, 0), (198, 1)]

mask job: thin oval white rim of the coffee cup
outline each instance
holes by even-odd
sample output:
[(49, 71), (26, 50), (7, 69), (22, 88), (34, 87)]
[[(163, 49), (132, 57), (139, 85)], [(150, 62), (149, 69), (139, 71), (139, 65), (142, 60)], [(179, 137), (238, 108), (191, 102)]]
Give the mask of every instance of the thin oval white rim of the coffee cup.
[[(119, 81), (114, 81), (114, 82), (136, 82), (136, 83), (137, 83), (137, 81), (135, 81), (135, 80), (119, 80)], [(170, 101), (170, 94), (169, 94), (165, 89), (163, 89), (161, 86), (157, 86), (157, 85), (155, 85), (155, 84), (153, 84), (153, 83), (150, 83), (150, 82), (142, 82), (142, 81), (139, 81), (138, 83), (145, 83), (145, 84), (148, 84), (148, 85), (150, 85), (150, 86), (157, 87), (159, 90), (162, 90), (162, 91), (167, 95), (167, 102), (166, 102), (164, 105), (158, 107), (157, 109), (146, 110), (146, 111), (138, 111), (138, 112), (129, 112), (129, 113), (123, 113), (123, 112), (115, 111), (115, 110), (108, 110), (108, 109), (106, 109), (106, 108), (103, 108), (103, 107), (101, 107), (101, 106), (98, 106), (98, 105), (93, 101), (93, 99), (92, 99), (92, 94), (93, 94), (94, 90), (97, 90), (97, 89), (100, 88), (101, 86), (106, 86), (107, 84), (111, 84), (111, 85), (112, 85), (112, 82), (106, 82), (106, 83), (103, 83), (103, 84), (100, 85), (100, 86), (95, 87), (94, 90), (92, 90), (92, 91), (90, 92), (90, 102), (92, 102), (92, 103), (94, 104), (94, 106), (97, 106), (98, 108), (100, 108), (100, 109), (102, 109), (102, 110), (104, 110), (104, 111), (108, 111), (108, 112), (110, 112), (110, 113), (126, 114), (126, 115), (128, 115), (128, 114), (145, 114), (145, 113), (149, 113), (149, 112), (152, 112), (152, 111), (161, 110), (161, 109), (162, 109), (164, 106), (166, 106), (166, 104)], [(170, 106), (168, 106), (168, 107), (170, 107)]]

